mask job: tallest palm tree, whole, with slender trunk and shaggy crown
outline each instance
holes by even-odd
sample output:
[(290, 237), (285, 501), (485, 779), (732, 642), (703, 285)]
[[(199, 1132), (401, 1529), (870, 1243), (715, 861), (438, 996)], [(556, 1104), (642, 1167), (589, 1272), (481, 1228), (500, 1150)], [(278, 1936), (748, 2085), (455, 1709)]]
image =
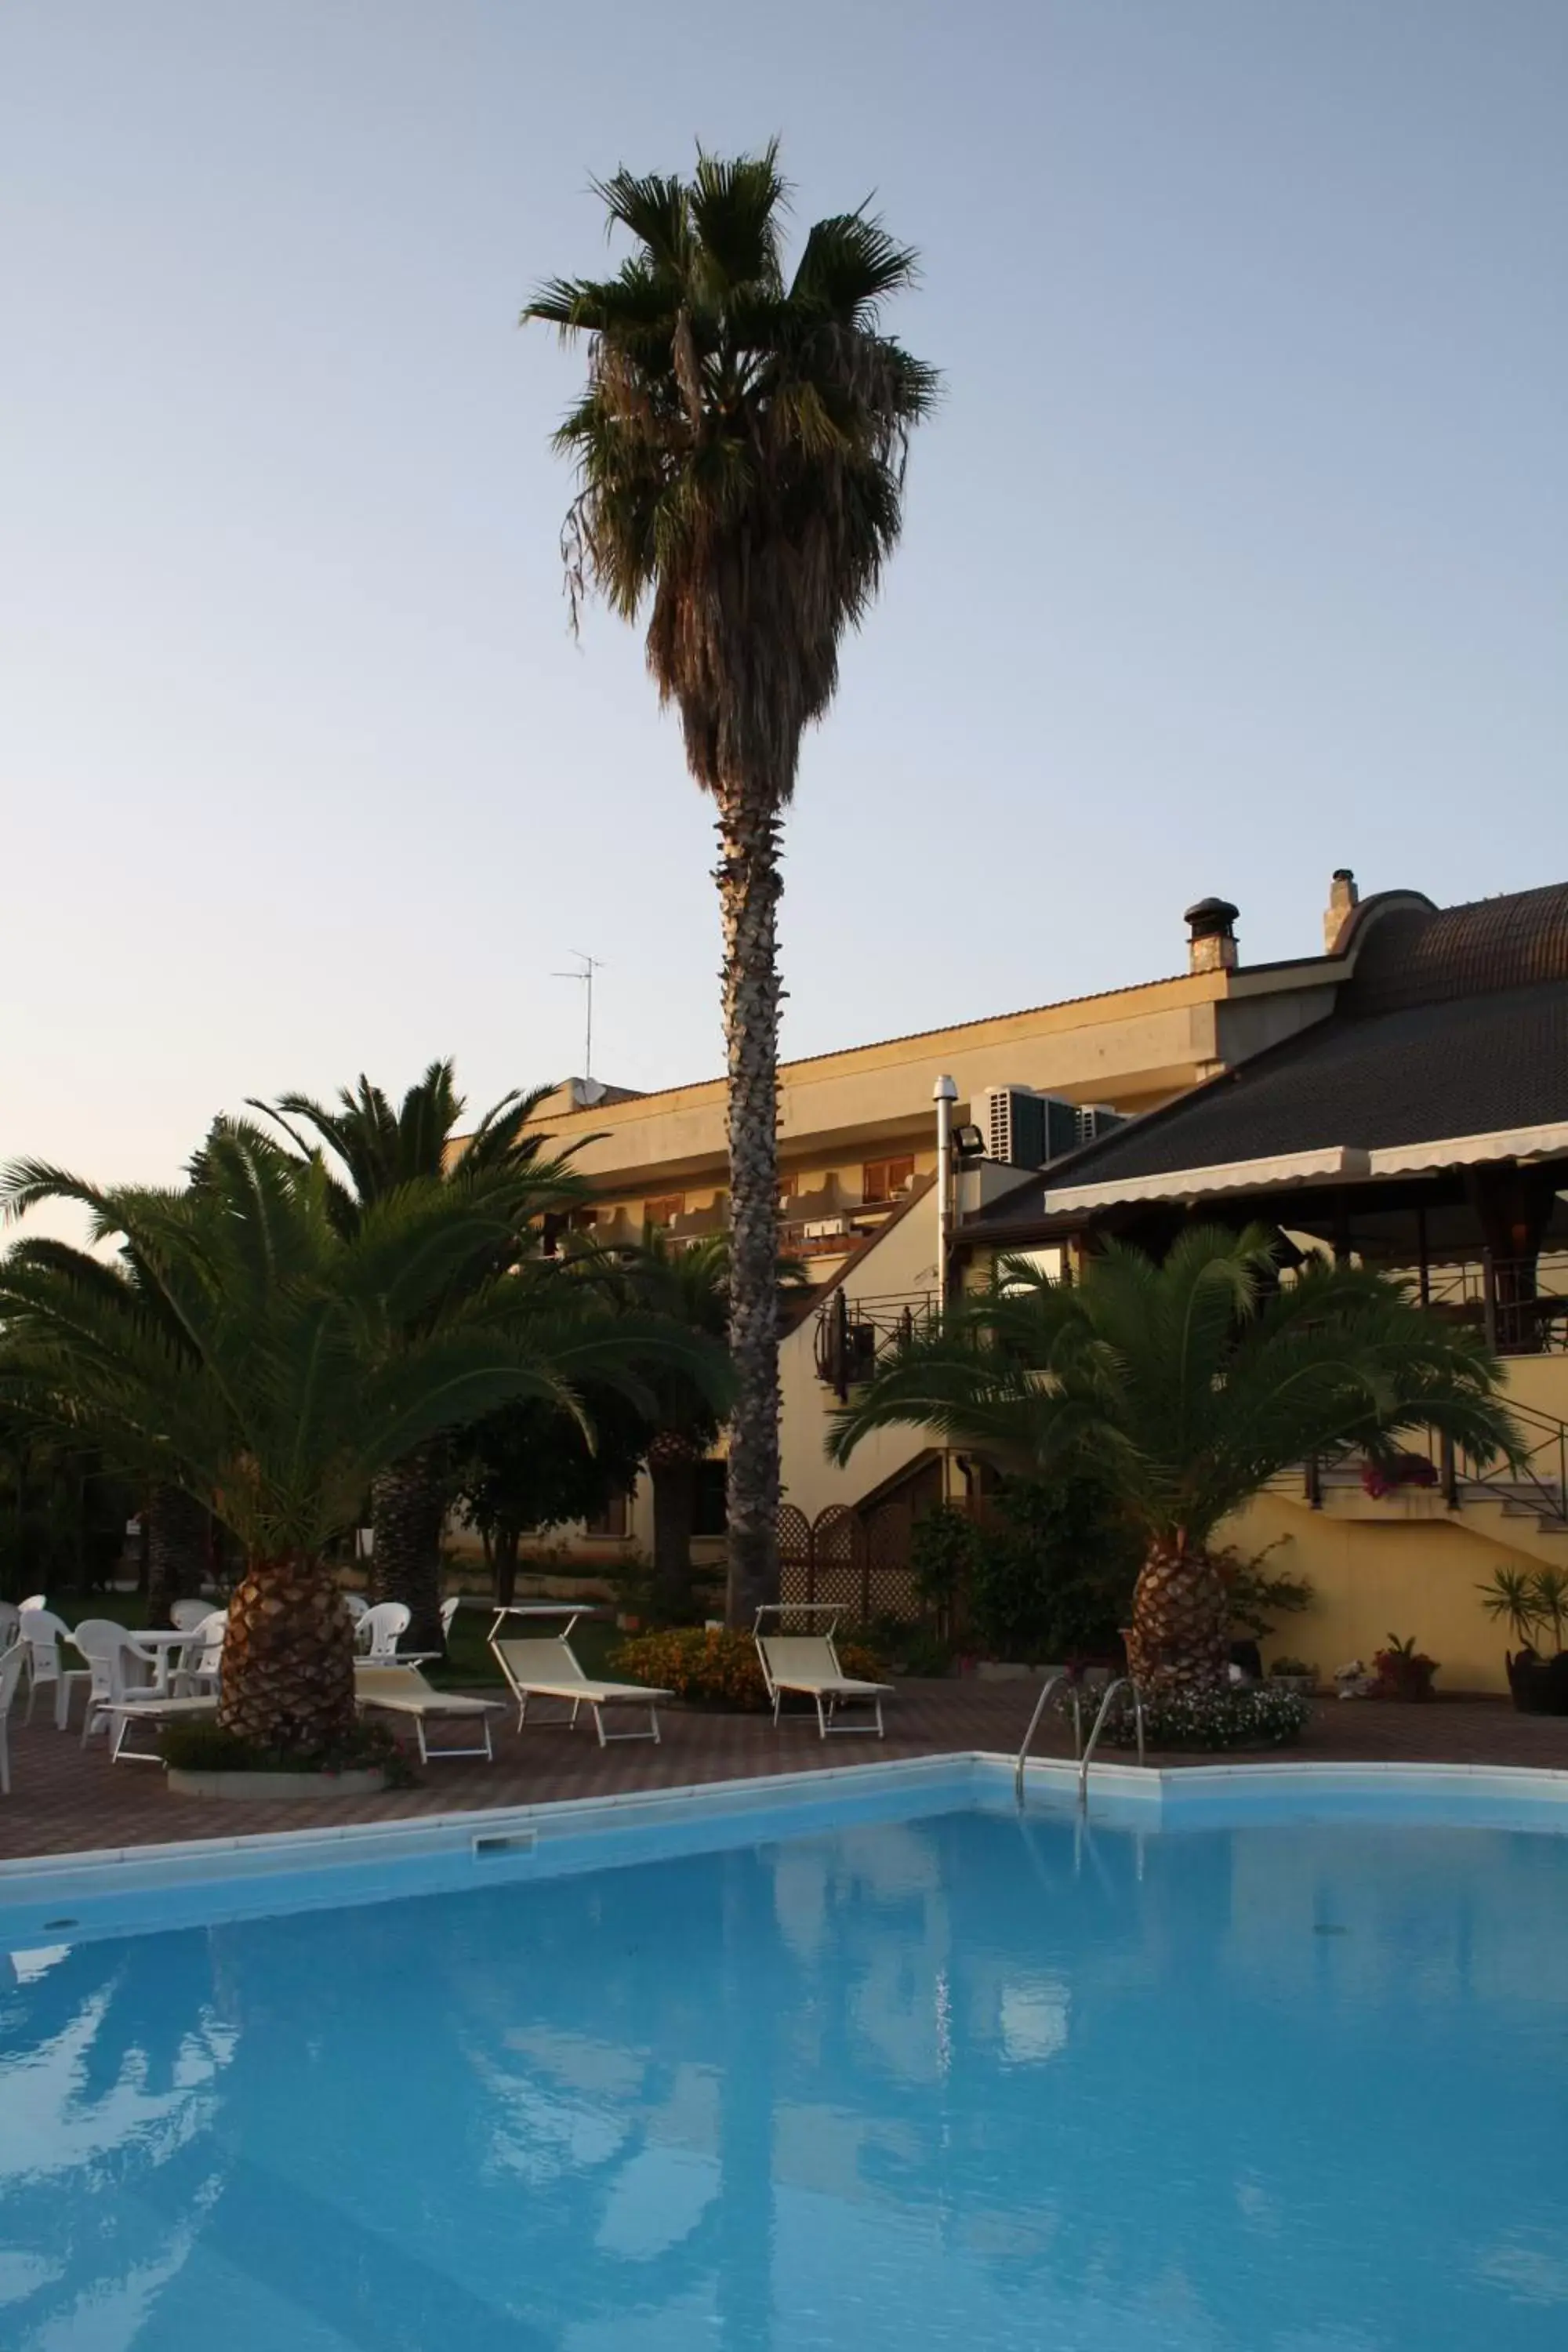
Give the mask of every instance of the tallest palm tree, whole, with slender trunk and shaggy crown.
[(646, 659), (717, 804), (733, 1265), (729, 1613), (778, 1592), (780, 816), (839, 644), (903, 524), (910, 433), (938, 379), (882, 334), (914, 254), (867, 212), (818, 221), (792, 275), (778, 151), (698, 155), (686, 179), (597, 183), (635, 252), (557, 278), (524, 320), (588, 339), (555, 447), (578, 468), (562, 550), (588, 590), (646, 612)]

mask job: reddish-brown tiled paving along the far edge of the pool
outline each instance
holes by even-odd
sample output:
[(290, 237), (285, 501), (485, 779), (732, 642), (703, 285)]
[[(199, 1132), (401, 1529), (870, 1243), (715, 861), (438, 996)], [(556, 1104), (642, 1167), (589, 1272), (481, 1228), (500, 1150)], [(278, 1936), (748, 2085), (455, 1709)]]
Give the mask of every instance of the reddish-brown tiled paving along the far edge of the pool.
[[(0, 1858), (176, 1837), (306, 1830), (320, 1823), (402, 1820), (418, 1813), (604, 1797), (637, 1788), (682, 1788), (696, 1780), (736, 1780), (971, 1748), (1011, 1755), (1023, 1738), (1032, 1703), (1032, 1684), (905, 1682), (889, 1700), (886, 1740), (832, 1738), (825, 1745), (816, 1738), (816, 1724), (804, 1717), (776, 1733), (766, 1717), (665, 1708), (663, 1745), (628, 1740), (599, 1750), (588, 1719), (571, 1733), (536, 1729), (529, 1722), (517, 1736), (512, 1717), (498, 1715), (494, 1764), (430, 1764), (418, 1788), (331, 1804), (212, 1804), (200, 1797), (172, 1797), (155, 1764), (110, 1764), (103, 1740), (82, 1752), (75, 1733), (54, 1731), (40, 1712), (31, 1726), (12, 1722), (12, 1795), (0, 1797)], [(1067, 1752), (1063, 1724), (1041, 1731), (1037, 1755)], [(1432, 1705), (1319, 1700), (1302, 1745), (1284, 1755), (1340, 1764), (1533, 1764), (1568, 1771), (1568, 1717), (1514, 1715), (1509, 1703), (1497, 1698), (1448, 1698)], [(1279, 1759), (1279, 1752), (1262, 1757), (1269, 1759)]]

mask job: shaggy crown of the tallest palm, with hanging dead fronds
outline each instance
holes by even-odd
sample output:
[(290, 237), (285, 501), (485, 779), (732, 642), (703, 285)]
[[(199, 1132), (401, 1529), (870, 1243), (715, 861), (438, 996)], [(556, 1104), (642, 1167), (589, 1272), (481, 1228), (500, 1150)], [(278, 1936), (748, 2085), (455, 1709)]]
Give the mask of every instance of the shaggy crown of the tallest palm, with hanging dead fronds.
[(628, 621), (649, 607), (649, 668), (696, 781), (766, 779), (780, 804), (898, 543), (907, 440), (936, 402), (936, 372), (879, 329), (914, 254), (844, 212), (785, 278), (776, 146), (698, 155), (691, 181), (616, 172), (597, 193), (637, 252), (524, 310), (590, 336), (588, 390), (555, 435), (583, 482), (569, 579)]

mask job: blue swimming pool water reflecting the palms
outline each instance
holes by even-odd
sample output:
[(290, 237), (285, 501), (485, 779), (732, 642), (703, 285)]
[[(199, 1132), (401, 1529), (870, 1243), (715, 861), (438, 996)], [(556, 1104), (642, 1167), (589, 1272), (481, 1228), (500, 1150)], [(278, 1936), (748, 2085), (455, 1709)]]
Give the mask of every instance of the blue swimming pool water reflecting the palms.
[(1561, 2352), (1566, 1959), (1561, 1837), (1001, 1809), (61, 1931), (0, 2343)]

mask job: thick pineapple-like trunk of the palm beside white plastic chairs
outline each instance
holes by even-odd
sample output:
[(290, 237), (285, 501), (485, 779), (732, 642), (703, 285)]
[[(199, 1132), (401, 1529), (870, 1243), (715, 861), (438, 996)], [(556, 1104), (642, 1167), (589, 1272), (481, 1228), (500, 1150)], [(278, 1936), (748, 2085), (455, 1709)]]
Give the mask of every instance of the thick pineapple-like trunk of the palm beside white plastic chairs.
[(331, 1569), (252, 1559), (228, 1604), (219, 1722), (256, 1748), (315, 1755), (355, 1724), (355, 1646)]

